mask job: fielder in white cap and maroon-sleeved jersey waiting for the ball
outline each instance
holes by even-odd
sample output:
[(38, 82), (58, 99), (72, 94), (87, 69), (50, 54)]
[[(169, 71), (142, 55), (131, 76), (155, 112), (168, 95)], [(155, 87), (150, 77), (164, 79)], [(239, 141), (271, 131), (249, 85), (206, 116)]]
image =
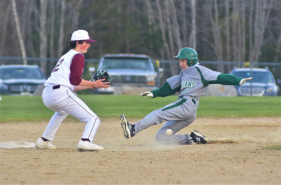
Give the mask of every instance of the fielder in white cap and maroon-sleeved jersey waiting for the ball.
[(100, 79), (95, 82), (82, 79), (85, 65), (84, 53), (90, 47), (90, 39), (87, 31), (79, 29), (73, 32), (69, 41), (69, 51), (64, 54), (56, 64), (51, 76), (46, 80), (42, 99), (46, 107), (55, 111), (42, 137), (36, 142), (36, 149), (54, 149), (51, 144), (61, 122), (72, 115), (86, 123), (83, 135), (77, 145), (78, 151), (95, 151), (104, 148), (92, 143), (97, 128), (99, 117), (76, 95), (73, 91), (87, 88), (108, 88), (110, 82), (102, 82)]

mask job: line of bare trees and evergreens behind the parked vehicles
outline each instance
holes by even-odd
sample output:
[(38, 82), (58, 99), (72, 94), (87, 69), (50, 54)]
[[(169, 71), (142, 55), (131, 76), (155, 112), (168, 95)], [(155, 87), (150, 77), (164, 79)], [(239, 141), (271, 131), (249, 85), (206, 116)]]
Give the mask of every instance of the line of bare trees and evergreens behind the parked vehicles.
[(280, 17), (279, 0), (5, 0), (0, 56), (59, 58), (71, 34), (85, 29), (97, 40), (86, 58), (174, 60), (191, 47), (199, 61), (280, 63)]

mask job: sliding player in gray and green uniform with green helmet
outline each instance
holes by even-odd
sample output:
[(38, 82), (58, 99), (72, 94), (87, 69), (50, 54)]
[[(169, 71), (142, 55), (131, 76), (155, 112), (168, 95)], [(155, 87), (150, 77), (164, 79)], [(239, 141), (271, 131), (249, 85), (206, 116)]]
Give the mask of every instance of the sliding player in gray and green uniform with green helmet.
[(196, 130), (191, 134), (178, 134), (196, 119), (199, 98), (206, 93), (209, 84), (242, 85), (250, 78), (240, 78), (230, 74), (212, 71), (198, 63), (198, 54), (192, 48), (182, 48), (174, 58), (179, 59), (182, 71), (179, 75), (168, 78), (163, 86), (151, 92), (143, 92), (141, 96), (151, 98), (166, 97), (179, 92), (177, 101), (149, 113), (141, 121), (131, 125), (125, 115), (121, 115), (120, 124), (124, 136), (129, 139), (152, 125), (167, 121), (156, 133), (155, 140), (164, 145), (188, 145), (192, 142), (205, 144), (210, 141)]

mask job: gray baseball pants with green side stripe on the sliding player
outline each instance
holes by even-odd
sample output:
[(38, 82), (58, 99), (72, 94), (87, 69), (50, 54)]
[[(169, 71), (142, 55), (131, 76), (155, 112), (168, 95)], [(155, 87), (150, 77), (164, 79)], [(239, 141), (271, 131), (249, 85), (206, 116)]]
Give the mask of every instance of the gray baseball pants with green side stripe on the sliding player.
[[(196, 119), (198, 102), (195, 103), (189, 96), (184, 96), (161, 109), (149, 113), (141, 121), (135, 123), (135, 134), (152, 125), (167, 121), (156, 133), (155, 140), (163, 145), (188, 145), (191, 143), (189, 134), (175, 135), (179, 130), (187, 127)], [(171, 129), (172, 135), (167, 135), (166, 130)]]

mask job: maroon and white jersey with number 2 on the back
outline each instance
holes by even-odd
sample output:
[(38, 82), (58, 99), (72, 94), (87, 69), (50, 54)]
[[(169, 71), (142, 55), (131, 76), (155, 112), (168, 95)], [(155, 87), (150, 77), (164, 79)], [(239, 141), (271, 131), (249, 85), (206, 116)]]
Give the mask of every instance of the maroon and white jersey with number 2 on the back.
[(64, 85), (73, 91), (82, 81), (81, 77), (84, 66), (84, 55), (71, 49), (58, 60), (56, 67), (52, 71), (51, 76), (46, 80), (44, 86)]

